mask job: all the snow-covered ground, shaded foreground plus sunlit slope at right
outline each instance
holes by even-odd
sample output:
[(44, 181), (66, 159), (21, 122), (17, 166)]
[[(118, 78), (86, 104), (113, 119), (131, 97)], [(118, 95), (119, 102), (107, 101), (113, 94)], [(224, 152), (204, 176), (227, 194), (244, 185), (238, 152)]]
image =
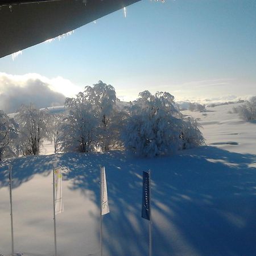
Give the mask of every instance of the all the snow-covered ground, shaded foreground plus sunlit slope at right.
[[(56, 217), (59, 256), (100, 255), (99, 166), (106, 167), (110, 213), (105, 256), (148, 255), (141, 218), (142, 171), (152, 170), (154, 256), (256, 255), (256, 123), (228, 113), (236, 105), (185, 111), (200, 118), (207, 146), (155, 159), (108, 154), (51, 154), (13, 160), (14, 247), (53, 255), (52, 168), (64, 166), (64, 213)], [(0, 168), (0, 254), (10, 255), (7, 164)]]

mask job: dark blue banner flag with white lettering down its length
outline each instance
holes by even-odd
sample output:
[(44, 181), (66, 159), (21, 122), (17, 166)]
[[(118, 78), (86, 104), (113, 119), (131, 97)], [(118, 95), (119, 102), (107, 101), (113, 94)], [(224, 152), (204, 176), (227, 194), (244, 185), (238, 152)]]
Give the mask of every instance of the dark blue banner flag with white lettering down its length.
[(146, 220), (150, 220), (150, 176), (148, 172), (144, 172), (144, 171), (143, 171), (141, 217), (146, 218)]

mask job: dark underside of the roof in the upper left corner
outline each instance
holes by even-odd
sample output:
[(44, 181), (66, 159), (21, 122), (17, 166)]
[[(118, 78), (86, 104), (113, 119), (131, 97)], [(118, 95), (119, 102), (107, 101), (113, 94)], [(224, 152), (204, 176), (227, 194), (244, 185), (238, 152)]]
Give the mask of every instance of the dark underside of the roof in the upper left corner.
[(75, 30), (140, 0), (0, 0), (0, 57)]

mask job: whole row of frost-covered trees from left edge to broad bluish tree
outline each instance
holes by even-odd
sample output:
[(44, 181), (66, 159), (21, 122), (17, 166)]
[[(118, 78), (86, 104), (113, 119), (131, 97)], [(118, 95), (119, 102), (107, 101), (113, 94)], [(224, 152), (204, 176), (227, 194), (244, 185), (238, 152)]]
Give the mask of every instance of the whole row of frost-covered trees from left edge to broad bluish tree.
[(22, 105), (14, 118), (0, 112), (0, 160), (38, 155), (43, 139), (55, 152), (92, 152), (126, 148), (139, 156), (171, 154), (204, 144), (199, 124), (184, 117), (174, 96), (147, 90), (120, 103), (112, 85), (99, 81), (65, 100), (65, 111), (51, 114)]

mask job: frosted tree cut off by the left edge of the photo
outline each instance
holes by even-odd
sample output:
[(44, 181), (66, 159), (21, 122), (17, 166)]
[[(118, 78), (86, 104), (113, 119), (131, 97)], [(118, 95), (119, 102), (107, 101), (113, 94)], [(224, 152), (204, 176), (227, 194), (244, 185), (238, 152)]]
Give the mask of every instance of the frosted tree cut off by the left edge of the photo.
[(18, 138), (18, 123), (0, 110), (0, 162), (4, 155), (15, 155), (14, 141)]

